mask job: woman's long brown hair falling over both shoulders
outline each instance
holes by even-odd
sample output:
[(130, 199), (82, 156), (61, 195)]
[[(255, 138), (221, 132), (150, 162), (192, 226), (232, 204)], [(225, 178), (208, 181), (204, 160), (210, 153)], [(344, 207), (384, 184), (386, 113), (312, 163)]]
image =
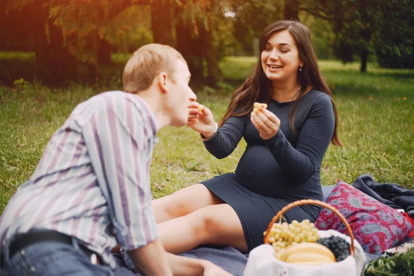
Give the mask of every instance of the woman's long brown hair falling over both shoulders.
[[(319, 72), (317, 57), (311, 44), (311, 34), (306, 26), (297, 21), (277, 21), (265, 28), (259, 43), (259, 60), (257, 61), (255, 69), (246, 78), (242, 86), (237, 88), (233, 93), (228, 109), (221, 118), (219, 126), (223, 126), (224, 122), (230, 117), (239, 117), (250, 113), (255, 101), (262, 103), (268, 103), (270, 101), (272, 97), (271, 81), (264, 74), (261, 55), (269, 37), (275, 32), (281, 32), (283, 30), (288, 30), (293, 39), (295, 39), (297, 49), (299, 50), (299, 59), (304, 61), (302, 71), (299, 71), (299, 68), (297, 70), (299, 85), (302, 88), (311, 86), (325, 92), (331, 97), (333, 113), (335, 115), (335, 128), (333, 130), (331, 142), (335, 146), (342, 146), (342, 142), (337, 135), (337, 110), (333, 101), (332, 92), (324, 81), (321, 72)], [(299, 91), (297, 100), (293, 102), (293, 105), (290, 108), (289, 124), (293, 131), (295, 131), (294, 121), (297, 106), (304, 97), (305, 92), (306, 89), (301, 89)]]

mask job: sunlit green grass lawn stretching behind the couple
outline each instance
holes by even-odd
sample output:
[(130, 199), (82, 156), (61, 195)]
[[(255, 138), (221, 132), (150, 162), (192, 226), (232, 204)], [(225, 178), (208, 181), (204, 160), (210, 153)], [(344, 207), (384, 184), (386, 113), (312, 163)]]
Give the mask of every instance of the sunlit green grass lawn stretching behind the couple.
[[(241, 83), (254, 63), (251, 57), (228, 57), (221, 68), (225, 77), (233, 79), (228, 83)], [(319, 61), (319, 66), (334, 93), (344, 143), (342, 148), (328, 148), (322, 184), (335, 184), (337, 179), (352, 183), (369, 173), (380, 183), (414, 189), (414, 70), (368, 64), (368, 72), (362, 74), (357, 63)], [(119, 81), (116, 86), (120, 87)], [(221, 83), (221, 87), (224, 91), (198, 91), (199, 101), (213, 110), (216, 121), (230, 100), (228, 85)], [(80, 84), (51, 89), (23, 79), (14, 88), (0, 86), (0, 213), (12, 193), (30, 178), (48, 139), (70, 111), (103, 89)], [(190, 128), (164, 128), (158, 136), (151, 167), (155, 198), (233, 171), (246, 147), (242, 140), (230, 157), (218, 160)]]

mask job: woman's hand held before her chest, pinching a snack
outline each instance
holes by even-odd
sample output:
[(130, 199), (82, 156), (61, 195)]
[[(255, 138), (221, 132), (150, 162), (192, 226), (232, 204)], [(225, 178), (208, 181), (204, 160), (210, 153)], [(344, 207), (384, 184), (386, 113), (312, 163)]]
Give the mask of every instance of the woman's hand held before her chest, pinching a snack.
[(264, 140), (272, 138), (279, 131), (279, 118), (266, 108), (259, 108), (257, 113), (251, 112), (250, 121), (252, 121), (253, 126), (259, 131), (260, 137)]

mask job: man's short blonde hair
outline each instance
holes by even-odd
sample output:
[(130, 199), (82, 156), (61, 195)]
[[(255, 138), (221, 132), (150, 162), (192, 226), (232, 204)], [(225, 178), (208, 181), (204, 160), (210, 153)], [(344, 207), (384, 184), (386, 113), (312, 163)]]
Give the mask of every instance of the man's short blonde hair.
[(170, 46), (156, 43), (142, 46), (126, 63), (122, 74), (124, 91), (137, 93), (148, 89), (160, 72), (166, 72), (174, 81), (178, 60), (186, 63), (184, 57)]

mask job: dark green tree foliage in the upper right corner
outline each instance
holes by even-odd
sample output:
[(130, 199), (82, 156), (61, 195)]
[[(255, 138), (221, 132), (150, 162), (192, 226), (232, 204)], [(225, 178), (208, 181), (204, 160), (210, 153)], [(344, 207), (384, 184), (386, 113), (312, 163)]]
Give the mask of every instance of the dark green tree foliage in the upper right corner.
[(300, 10), (331, 24), (338, 57), (350, 61), (359, 55), (361, 72), (366, 72), (371, 52), (394, 61), (413, 55), (413, 0), (301, 0), (300, 4)]

